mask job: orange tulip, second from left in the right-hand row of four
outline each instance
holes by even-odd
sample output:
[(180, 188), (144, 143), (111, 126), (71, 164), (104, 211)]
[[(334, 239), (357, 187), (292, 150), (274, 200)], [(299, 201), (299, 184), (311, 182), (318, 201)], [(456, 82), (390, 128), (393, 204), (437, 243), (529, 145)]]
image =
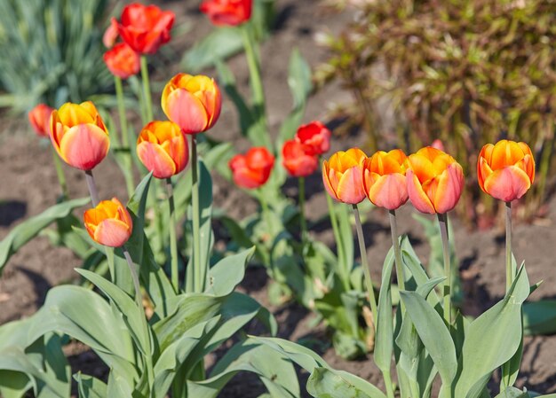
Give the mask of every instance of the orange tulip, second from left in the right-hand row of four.
[(399, 149), (379, 151), (363, 163), (363, 188), (378, 207), (395, 210), (408, 201), (407, 157)]

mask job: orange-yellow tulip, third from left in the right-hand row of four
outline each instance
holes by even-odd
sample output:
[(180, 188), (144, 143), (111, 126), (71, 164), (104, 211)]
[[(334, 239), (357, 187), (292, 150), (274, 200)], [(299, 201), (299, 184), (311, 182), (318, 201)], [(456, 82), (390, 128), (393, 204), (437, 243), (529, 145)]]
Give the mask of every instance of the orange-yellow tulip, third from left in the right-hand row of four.
[(427, 146), (408, 157), (409, 199), (422, 213), (444, 214), (457, 205), (464, 188), (464, 172), (449, 154)]

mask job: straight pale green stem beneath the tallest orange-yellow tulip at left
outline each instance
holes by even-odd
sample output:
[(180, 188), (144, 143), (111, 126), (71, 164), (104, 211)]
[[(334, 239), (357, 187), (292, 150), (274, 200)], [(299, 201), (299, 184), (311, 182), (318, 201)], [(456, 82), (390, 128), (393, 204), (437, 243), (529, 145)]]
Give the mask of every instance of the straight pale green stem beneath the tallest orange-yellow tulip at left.
[[(197, 160), (197, 139), (191, 135), (191, 204), (193, 206), (193, 275), (194, 292), (201, 293), (204, 290), (204, 279), (206, 278), (205, 265), (201, 264), (201, 221), (199, 215), (199, 172)], [(203, 269), (202, 269), (203, 267)]]

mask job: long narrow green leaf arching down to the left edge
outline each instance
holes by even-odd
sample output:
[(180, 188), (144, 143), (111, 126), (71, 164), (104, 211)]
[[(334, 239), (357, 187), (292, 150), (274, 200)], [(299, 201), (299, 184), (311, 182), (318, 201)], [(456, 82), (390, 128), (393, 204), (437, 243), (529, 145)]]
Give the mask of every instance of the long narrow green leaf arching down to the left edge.
[(12, 254), (20, 250), (21, 246), (35, 238), (41, 230), (44, 230), (52, 222), (66, 217), (73, 209), (85, 206), (89, 201), (89, 198), (68, 200), (67, 202), (52, 206), (44, 210), (40, 215), (31, 217), (14, 227), (0, 242), (0, 275), (2, 275), (2, 269), (4, 269), (6, 262)]

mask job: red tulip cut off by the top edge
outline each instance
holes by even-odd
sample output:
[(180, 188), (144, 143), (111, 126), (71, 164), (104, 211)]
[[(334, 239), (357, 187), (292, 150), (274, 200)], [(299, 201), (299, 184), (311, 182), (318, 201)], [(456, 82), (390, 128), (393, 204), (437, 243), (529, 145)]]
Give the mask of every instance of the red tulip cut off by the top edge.
[(216, 26), (237, 26), (251, 17), (252, 0), (205, 0), (199, 9)]

